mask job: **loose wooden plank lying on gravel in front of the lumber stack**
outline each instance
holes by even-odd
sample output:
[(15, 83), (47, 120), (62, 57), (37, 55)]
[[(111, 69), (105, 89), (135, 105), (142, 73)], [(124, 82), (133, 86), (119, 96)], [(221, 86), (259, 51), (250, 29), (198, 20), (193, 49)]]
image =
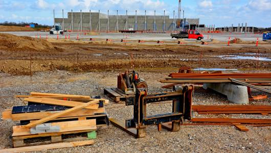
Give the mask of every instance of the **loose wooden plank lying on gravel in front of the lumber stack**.
[(57, 148), (67, 148), (67, 147), (77, 147), (84, 145), (94, 144), (94, 140), (84, 140), (84, 141), (74, 141), (74, 142), (62, 142), (62, 143), (52, 143), (46, 145), (36, 145), (28, 147), (18, 147), (18, 148), (8, 148), (2, 149), (0, 152), (28, 152), (28, 151), (38, 151), (38, 150), (48, 150)]

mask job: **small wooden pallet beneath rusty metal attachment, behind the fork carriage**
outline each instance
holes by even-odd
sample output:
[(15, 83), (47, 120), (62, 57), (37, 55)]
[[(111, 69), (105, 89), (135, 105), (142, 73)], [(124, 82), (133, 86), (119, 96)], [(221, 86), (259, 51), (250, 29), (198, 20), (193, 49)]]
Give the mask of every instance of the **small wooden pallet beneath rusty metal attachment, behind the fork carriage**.
[(125, 94), (119, 88), (105, 88), (103, 92), (105, 95), (112, 98), (116, 103), (126, 101), (126, 98), (128, 97), (134, 97), (134, 94)]

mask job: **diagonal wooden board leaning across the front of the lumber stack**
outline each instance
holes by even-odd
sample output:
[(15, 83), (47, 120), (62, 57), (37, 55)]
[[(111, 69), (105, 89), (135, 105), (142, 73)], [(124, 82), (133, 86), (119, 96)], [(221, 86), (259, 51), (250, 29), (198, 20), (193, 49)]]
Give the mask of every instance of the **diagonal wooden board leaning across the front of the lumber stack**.
[(64, 115), (67, 115), (69, 113), (72, 113), (72, 112), (76, 112), (78, 110), (81, 110), (89, 105), (93, 105), (93, 104), (97, 104), (99, 103), (99, 100), (93, 100), (93, 101), (89, 101), (88, 103), (84, 103), (82, 105), (79, 105), (77, 107), (74, 107), (74, 108), (71, 108), (71, 109), (68, 109), (68, 110), (65, 110), (65, 111), (62, 111), (62, 112), (59, 112), (59, 113), (56, 113), (56, 114), (53, 114), (53, 115), (50, 115), (50, 116), (47, 116), (47, 117), (44, 117), (40, 120), (36, 120), (32, 123), (29, 123), (26, 125), (26, 127), (34, 127), (36, 126), (37, 124), (41, 124), (41, 123), (44, 123), (44, 122), (47, 122), (49, 120), (52, 120), (52, 119), (55, 119), (55, 118), (58, 118), (58, 117), (61, 117), (61, 116), (64, 116)]

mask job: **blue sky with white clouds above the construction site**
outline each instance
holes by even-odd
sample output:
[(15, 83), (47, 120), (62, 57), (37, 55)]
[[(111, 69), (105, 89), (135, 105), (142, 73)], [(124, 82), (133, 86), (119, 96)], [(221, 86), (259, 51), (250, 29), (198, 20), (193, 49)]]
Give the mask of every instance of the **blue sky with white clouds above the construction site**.
[[(74, 12), (98, 12), (115, 15), (116, 10), (124, 15), (166, 15), (173, 18), (178, 10), (178, 0), (0, 0), (0, 22), (37, 22), (53, 24), (53, 9), (56, 17), (64, 17), (73, 9)], [(235, 26), (247, 22), (248, 26), (267, 28), (271, 27), (271, 0), (182, 0), (182, 10), (185, 18), (199, 18), (200, 24), (215, 24), (216, 27)]]

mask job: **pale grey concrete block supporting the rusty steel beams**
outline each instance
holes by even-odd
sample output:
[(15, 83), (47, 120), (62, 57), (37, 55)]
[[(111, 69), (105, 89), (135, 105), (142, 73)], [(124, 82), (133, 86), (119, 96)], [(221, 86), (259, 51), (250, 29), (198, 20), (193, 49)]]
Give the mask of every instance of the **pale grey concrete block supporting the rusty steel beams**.
[(205, 83), (203, 88), (210, 88), (226, 95), (231, 103), (249, 104), (249, 94), (247, 94), (246, 86), (234, 85), (232, 83)]

